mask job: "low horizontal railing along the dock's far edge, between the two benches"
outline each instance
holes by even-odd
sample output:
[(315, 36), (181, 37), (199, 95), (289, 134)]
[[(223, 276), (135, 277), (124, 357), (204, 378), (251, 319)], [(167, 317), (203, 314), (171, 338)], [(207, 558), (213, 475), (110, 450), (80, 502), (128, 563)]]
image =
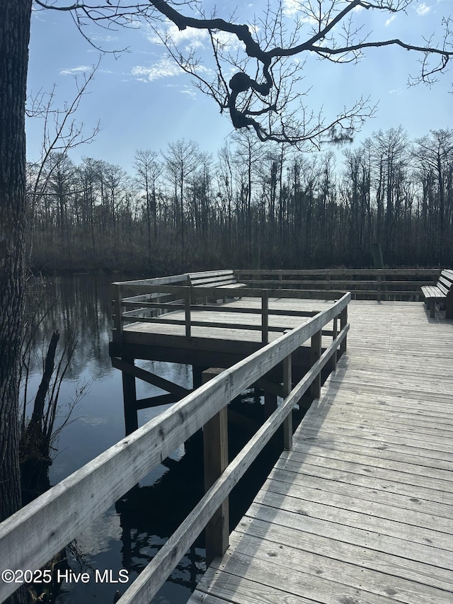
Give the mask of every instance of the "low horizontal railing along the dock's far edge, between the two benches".
[(422, 285), (436, 283), (440, 269), (384, 268), (235, 270), (252, 287), (350, 291), (353, 300), (423, 300)]

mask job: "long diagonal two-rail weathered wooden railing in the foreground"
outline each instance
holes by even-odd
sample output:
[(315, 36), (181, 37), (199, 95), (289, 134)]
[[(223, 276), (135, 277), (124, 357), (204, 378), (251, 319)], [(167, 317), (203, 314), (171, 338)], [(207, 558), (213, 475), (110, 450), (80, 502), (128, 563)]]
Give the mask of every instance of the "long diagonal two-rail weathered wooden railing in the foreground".
[[(213, 429), (219, 429), (212, 427), (212, 421), (218, 426), (224, 426), (225, 422), (217, 421), (216, 418), (222, 419), (229, 401), (239, 396), (244, 389), (277, 364), (283, 363), (286, 397), (282, 404), (234, 460), (226, 467), (223, 467), (224, 464), (220, 465), (217, 472), (219, 475), (217, 478), (211, 477), (213, 484), (205, 496), (119, 600), (120, 604), (148, 604), (208, 521), (219, 508), (221, 514), (223, 513), (231, 489), (239, 482), (279, 426), (284, 426), (285, 448), (291, 447), (291, 411), (294, 405), (309, 387), (314, 396), (319, 396), (321, 369), (329, 360), (334, 367), (338, 349), (340, 353), (346, 349), (349, 301), (350, 294), (347, 293), (340, 300), (333, 302), (327, 310), (311, 317), (305, 324), (215, 375), (202, 387), (1, 523), (0, 571), (38, 569), (45, 564), (74, 537), (88, 528), (93, 518), (101, 515), (118, 498), (132, 489), (132, 486), (196, 431), (209, 424), (210, 428), (205, 428), (206, 431), (212, 433)], [(331, 322), (332, 343), (321, 354), (322, 330)], [(293, 385), (291, 355), (309, 338), (313, 364), (302, 380)], [(220, 441), (224, 443), (225, 439), (212, 439), (212, 443)], [(219, 452), (217, 457), (222, 459), (222, 452)], [(227, 545), (226, 525), (226, 522), (217, 523), (220, 532), (214, 532), (213, 547), (216, 552), (224, 551)], [(4, 601), (15, 588), (14, 583), (0, 581), (0, 600)]]

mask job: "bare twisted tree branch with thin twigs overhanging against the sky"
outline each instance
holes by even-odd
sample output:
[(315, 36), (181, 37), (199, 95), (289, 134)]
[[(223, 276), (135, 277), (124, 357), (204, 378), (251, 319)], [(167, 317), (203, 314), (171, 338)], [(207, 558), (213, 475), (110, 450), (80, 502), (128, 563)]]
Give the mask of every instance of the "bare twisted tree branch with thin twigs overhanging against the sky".
[[(362, 33), (361, 11), (384, 15), (406, 13), (413, 1), (300, 0), (298, 11), (290, 18), (282, 0), (275, 0), (268, 2), (263, 19), (258, 21), (261, 30), (256, 20), (246, 24), (237, 23), (233, 16), (224, 19), (212, 13), (207, 17), (201, 0), (142, 0), (136, 3), (105, 0), (73, 4), (35, 0), (35, 4), (41, 8), (71, 11), (77, 27), (88, 41), (91, 41), (90, 37), (84, 32), (87, 23), (115, 28), (145, 22), (159, 36), (171, 57), (195, 78), (195, 86), (214, 98), (221, 111), (228, 110), (235, 128), (252, 127), (263, 141), (294, 144), (308, 141), (317, 145), (319, 137), (324, 137), (329, 127), (337, 134), (340, 127), (348, 139), (355, 127), (374, 113), (375, 106), (361, 99), (352, 108), (340, 111), (327, 121), (321, 115), (307, 111), (300, 103), (304, 93), (296, 86), (303, 79), (304, 62), (297, 64), (295, 59), (312, 54), (336, 63), (357, 62), (365, 50), (396, 46), (422, 57), (420, 75), (412, 77), (412, 83), (432, 84), (435, 74), (445, 72), (453, 55), (448, 18), (443, 21), (443, 38), (437, 44), (432, 38), (426, 45), (399, 38), (370, 41), (369, 34)], [(193, 47), (180, 49), (168, 28), (170, 23), (180, 32), (202, 30), (210, 36), (213, 69), (202, 69), (202, 59)], [(309, 35), (304, 33), (302, 40), (303, 26), (307, 25), (311, 31)], [(228, 40), (241, 42), (239, 47), (236, 45), (235, 55)], [(432, 57), (438, 59), (434, 64), (430, 64)]]

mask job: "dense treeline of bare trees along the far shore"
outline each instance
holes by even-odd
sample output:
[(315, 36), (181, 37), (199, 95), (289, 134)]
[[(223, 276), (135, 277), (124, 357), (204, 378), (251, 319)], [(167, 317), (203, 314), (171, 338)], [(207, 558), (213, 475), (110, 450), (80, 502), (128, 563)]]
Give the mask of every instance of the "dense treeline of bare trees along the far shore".
[(42, 272), (453, 265), (453, 130), (402, 127), (306, 154), (234, 135), (180, 140), (134, 174), (67, 154), (28, 164), (28, 261)]

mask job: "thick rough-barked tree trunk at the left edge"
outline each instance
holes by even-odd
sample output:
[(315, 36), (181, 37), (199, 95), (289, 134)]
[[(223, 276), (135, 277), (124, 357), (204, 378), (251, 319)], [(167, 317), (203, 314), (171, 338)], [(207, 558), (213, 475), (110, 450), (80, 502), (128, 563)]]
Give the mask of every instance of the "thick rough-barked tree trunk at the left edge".
[(18, 361), (25, 246), (25, 94), (31, 0), (3, 0), (0, 19), (0, 520), (21, 506)]

